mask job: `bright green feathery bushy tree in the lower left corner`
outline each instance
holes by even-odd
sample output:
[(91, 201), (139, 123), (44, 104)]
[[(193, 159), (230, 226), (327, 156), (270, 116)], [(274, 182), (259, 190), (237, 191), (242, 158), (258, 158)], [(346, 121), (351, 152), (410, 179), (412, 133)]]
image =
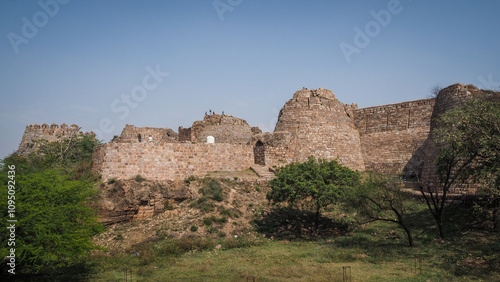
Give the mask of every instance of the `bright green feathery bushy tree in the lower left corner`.
[[(7, 199), (7, 173), (2, 171), (2, 199)], [(87, 203), (96, 196), (91, 183), (68, 180), (55, 170), (18, 174), (15, 178), (16, 265), (23, 273), (70, 266), (94, 248), (101, 229)], [(0, 207), (2, 222), (9, 219)], [(0, 255), (9, 254), (9, 234), (1, 233)]]

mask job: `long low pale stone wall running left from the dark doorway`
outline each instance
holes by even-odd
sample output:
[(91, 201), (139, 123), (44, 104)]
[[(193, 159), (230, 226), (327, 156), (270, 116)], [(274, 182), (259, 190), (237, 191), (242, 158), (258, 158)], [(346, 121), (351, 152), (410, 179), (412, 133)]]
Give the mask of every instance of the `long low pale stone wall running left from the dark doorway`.
[(253, 163), (253, 148), (248, 145), (109, 143), (95, 149), (93, 170), (104, 180), (138, 174), (148, 180), (174, 180), (209, 171), (244, 170)]

